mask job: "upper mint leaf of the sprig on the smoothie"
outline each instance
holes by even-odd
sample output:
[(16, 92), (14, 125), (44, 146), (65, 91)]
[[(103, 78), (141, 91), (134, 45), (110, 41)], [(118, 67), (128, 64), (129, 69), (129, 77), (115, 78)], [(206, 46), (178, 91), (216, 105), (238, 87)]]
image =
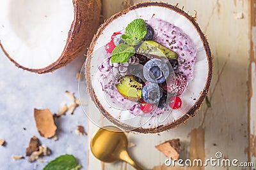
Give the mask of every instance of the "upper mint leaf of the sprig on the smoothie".
[(138, 45), (140, 41), (146, 36), (147, 27), (143, 19), (135, 19), (125, 28), (125, 35), (122, 35), (125, 43), (128, 45)]

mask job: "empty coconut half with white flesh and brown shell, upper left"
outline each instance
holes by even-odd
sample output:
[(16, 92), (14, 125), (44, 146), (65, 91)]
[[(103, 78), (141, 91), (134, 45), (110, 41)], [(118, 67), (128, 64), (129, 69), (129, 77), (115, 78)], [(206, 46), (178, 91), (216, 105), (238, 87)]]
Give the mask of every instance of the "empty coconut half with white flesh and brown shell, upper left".
[(100, 8), (100, 0), (1, 1), (0, 46), (17, 67), (53, 71), (86, 50)]

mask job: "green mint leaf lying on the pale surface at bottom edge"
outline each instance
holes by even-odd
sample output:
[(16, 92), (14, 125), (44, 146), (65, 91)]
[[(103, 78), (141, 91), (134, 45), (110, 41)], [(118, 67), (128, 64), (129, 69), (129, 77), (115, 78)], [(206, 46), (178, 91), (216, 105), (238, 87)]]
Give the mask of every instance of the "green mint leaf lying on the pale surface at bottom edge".
[(81, 167), (81, 165), (77, 165), (73, 155), (61, 155), (49, 162), (43, 170), (78, 170)]

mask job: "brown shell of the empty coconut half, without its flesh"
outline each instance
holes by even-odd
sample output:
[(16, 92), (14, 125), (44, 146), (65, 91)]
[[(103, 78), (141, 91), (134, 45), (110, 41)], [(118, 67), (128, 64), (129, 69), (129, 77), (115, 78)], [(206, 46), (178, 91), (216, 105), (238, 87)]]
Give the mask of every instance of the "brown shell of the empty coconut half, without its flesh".
[(4, 50), (4, 45), (0, 46), (5, 55), (17, 66), (22, 69), (35, 72), (38, 74), (54, 71), (60, 67), (66, 66), (72, 60), (86, 51), (88, 45), (93, 38), (93, 34), (97, 31), (100, 20), (101, 1), (100, 0), (73, 0), (74, 4), (74, 20), (68, 32), (67, 43), (61, 56), (56, 62), (41, 69), (31, 69), (21, 66), (12, 56)]

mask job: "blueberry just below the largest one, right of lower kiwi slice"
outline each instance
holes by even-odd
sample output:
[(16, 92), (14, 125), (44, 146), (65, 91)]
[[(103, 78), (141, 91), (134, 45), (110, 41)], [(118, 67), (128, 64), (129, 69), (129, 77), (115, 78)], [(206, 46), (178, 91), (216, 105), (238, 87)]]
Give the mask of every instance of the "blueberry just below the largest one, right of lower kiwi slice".
[(163, 90), (157, 83), (148, 83), (143, 87), (141, 96), (147, 103), (158, 103), (163, 96)]

